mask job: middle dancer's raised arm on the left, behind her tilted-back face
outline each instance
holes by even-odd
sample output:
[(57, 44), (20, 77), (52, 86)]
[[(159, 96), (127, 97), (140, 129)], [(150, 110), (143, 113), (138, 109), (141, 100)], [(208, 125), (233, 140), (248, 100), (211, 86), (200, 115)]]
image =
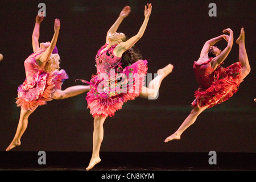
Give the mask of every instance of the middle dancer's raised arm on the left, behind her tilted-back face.
[(112, 25), (112, 27), (109, 28), (109, 31), (106, 35), (106, 43), (109, 42), (108, 37), (112, 35), (115, 31), (117, 31), (119, 25), (122, 23), (123, 19), (125, 19), (131, 12), (130, 6), (125, 6), (121, 13), (119, 14), (117, 20), (115, 20), (115, 23)]

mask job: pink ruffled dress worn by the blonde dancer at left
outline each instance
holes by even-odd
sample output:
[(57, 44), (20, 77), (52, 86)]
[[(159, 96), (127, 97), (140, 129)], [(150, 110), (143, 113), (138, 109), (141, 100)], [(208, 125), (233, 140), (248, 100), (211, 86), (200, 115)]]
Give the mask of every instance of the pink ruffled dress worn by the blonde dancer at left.
[(18, 87), (17, 106), (21, 109), (34, 110), (36, 107), (46, 105), (52, 100), (55, 89), (61, 89), (63, 81), (68, 78), (67, 73), (61, 69), (50, 73), (40, 68), (35, 57), (39, 55), (32, 53), (24, 61), (26, 79)]

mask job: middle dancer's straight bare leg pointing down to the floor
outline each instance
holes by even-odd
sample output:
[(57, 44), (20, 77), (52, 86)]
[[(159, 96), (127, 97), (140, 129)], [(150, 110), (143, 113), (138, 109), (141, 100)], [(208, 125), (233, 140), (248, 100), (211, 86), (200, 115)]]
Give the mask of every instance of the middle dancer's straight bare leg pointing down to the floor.
[(104, 128), (103, 124), (105, 121), (105, 117), (95, 117), (94, 118), (94, 123), (93, 123), (93, 152), (92, 152), (92, 158), (90, 159), (90, 163), (86, 170), (92, 169), (97, 163), (101, 162), (100, 159), (100, 148), (101, 148), (101, 143), (103, 140), (104, 136)]

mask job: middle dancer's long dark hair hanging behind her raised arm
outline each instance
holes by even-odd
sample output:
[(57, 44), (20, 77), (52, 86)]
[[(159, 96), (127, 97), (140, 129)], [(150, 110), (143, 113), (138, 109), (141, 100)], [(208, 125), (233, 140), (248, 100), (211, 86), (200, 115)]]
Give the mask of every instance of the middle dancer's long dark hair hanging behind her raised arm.
[[(122, 39), (123, 42), (126, 42), (127, 37)], [(125, 68), (133, 63), (136, 63), (138, 60), (142, 59), (141, 53), (136, 49), (134, 49), (134, 46), (128, 49), (127, 51), (123, 52), (121, 63), (122, 67)]]

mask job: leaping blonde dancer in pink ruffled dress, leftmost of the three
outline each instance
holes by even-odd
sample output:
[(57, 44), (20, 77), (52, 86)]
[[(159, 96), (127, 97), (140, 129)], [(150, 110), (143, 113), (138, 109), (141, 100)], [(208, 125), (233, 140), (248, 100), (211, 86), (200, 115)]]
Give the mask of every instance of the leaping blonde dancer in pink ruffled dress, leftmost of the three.
[(44, 16), (36, 16), (34, 31), (32, 33), (32, 53), (24, 61), (26, 80), (18, 88), (17, 106), (20, 106), (20, 118), (13, 141), (6, 151), (20, 145), (20, 138), (27, 128), (28, 117), (38, 106), (46, 105), (52, 99), (61, 100), (78, 94), (88, 92), (88, 85), (71, 86), (61, 90), (63, 81), (68, 78), (67, 73), (59, 71), (59, 60), (56, 42), (60, 30), (60, 20), (55, 19), (54, 35), (51, 43), (39, 45), (40, 23)]

